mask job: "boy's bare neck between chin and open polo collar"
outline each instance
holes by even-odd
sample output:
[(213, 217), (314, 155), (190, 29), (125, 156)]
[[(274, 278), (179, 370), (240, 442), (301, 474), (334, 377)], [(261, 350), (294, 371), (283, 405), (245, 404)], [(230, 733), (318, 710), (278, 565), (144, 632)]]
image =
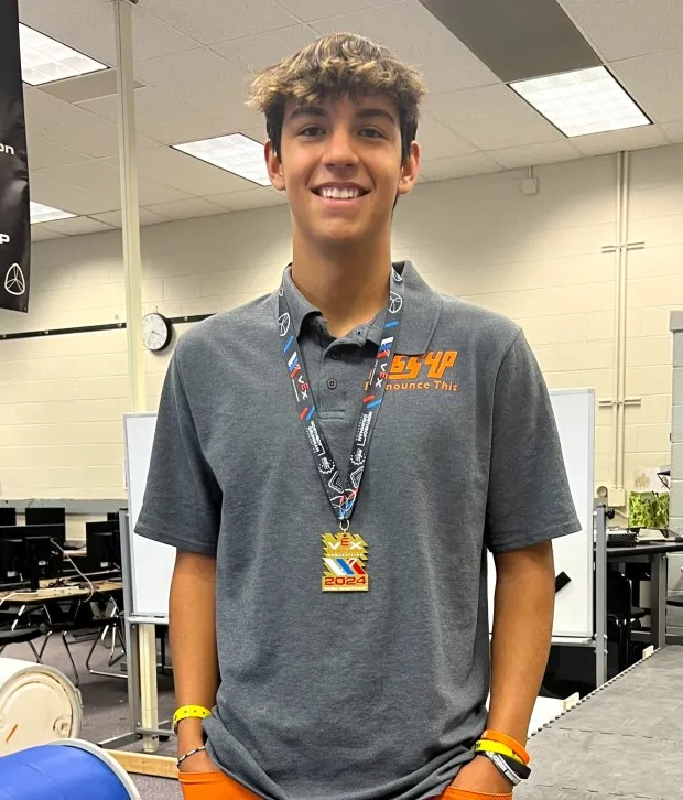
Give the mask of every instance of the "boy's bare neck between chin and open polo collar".
[(387, 306), (390, 274), (388, 241), (321, 251), (294, 239), (292, 280), (321, 310), (335, 338), (373, 320)]

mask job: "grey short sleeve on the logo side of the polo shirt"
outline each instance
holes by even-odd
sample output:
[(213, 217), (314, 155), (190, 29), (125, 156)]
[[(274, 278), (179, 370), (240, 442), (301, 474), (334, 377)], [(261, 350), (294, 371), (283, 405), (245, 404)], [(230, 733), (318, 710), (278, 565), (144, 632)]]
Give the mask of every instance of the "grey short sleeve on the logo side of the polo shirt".
[(501, 553), (578, 530), (545, 380), (520, 331), (496, 379), (486, 544)]

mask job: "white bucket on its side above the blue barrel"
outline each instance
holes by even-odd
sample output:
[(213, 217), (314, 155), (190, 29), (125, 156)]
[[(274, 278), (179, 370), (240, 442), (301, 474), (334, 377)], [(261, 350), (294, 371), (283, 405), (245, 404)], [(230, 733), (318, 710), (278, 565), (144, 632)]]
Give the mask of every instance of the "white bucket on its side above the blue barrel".
[(77, 738), (80, 692), (52, 667), (0, 658), (0, 756)]

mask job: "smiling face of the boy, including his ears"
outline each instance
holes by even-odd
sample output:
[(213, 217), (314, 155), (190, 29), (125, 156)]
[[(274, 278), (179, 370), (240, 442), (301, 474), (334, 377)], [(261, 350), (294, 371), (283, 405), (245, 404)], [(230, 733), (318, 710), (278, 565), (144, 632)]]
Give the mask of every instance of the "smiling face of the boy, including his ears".
[(286, 192), (294, 235), (323, 245), (388, 235), (397, 195), (412, 190), (420, 164), (414, 142), (401, 164), (399, 113), (382, 96), (288, 104), (281, 156), (268, 142), (270, 177)]

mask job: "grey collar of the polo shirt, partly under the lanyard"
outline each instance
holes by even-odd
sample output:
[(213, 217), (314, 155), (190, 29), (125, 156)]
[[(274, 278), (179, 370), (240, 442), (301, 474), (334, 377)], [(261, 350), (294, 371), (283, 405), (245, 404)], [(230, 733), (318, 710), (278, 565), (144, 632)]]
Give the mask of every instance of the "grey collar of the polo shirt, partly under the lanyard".
[[(405, 356), (421, 356), (427, 352), (430, 342), (438, 322), (442, 299), (420, 277), (411, 261), (394, 261), (393, 268), (403, 278), (405, 310), (399, 332), (397, 353)], [(292, 266), (289, 264), (282, 280), (284, 295), (290, 306), (294, 333), (299, 337), (304, 321), (312, 314), (321, 314), (301, 293), (292, 280)], [(273, 293), (275, 309), (278, 292)], [(368, 329), (368, 338), (379, 345), (383, 333), (384, 313), (380, 312)]]

